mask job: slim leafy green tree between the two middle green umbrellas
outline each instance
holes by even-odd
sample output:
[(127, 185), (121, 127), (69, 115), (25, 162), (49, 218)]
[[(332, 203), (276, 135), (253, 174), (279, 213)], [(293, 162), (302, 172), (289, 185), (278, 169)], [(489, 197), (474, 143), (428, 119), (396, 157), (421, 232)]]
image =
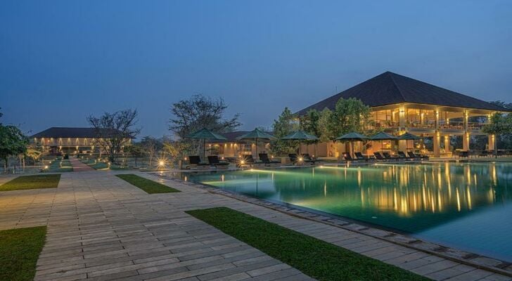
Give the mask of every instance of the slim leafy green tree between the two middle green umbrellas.
[(274, 131), (274, 136), (276, 136), (277, 140), (271, 142), (271, 151), (276, 155), (283, 155), (287, 153), (294, 152), (298, 146), (297, 141), (283, 141), (281, 138), (283, 136), (292, 133), (293, 131), (297, 131), (299, 129), (299, 124), (297, 122), (297, 117), (295, 117), (288, 107), (285, 107), (281, 115), (279, 115), (278, 119), (274, 119), (274, 124), (272, 124), (272, 130)]

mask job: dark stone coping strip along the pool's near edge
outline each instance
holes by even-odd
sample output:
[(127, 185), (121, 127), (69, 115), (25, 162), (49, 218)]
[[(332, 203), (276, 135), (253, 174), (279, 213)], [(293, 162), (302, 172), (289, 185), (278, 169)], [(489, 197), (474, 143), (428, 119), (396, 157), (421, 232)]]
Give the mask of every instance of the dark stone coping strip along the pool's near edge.
[(433, 242), (427, 242), (420, 240), (415, 237), (409, 237), (404, 234), (396, 233), (390, 230), (380, 229), (373, 226), (367, 226), (359, 223), (350, 221), (344, 221), (342, 218), (335, 218), (333, 216), (324, 216), (321, 214), (316, 214), (312, 211), (307, 211), (305, 209), (299, 209), (290, 206), (290, 204), (276, 204), (274, 202), (269, 202), (265, 200), (258, 199), (256, 197), (250, 197), (248, 195), (243, 195), (236, 192), (229, 192), (226, 190), (222, 190), (219, 188), (213, 188), (209, 185), (204, 185), (202, 183), (193, 183), (189, 181), (183, 181), (179, 178), (170, 178), (168, 176), (164, 176), (161, 174), (156, 174), (156, 176), (164, 177), (167, 180), (177, 181), (180, 183), (184, 183), (186, 185), (193, 186), (195, 188), (200, 188), (206, 190), (207, 192), (214, 193), (217, 195), (224, 195), (226, 197), (230, 197), (236, 200), (240, 200), (242, 202), (255, 204), (261, 207), (266, 207), (269, 209), (273, 209), (274, 211), (279, 211), (283, 214), (288, 214), (290, 216), (295, 216), (297, 218), (307, 219), (309, 221), (316, 221), (319, 223), (324, 223), (329, 226), (335, 226), (337, 228), (342, 228), (345, 230), (350, 230), (355, 233), (360, 233), (363, 235), (368, 235), (370, 237), (374, 237), (379, 240), (383, 240), (386, 242), (390, 242), (393, 244), (400, 245), (402, 247), (407, 247), (409, 249), (415, 249), (417, 251), (422, 251), (427, 254), (432, 254), (434, 256), (440, 256), (443, 259), (456, 261), (458, 263), (466, 264), (468, 266), (473, 266), (475, 268), (480, 268), (484, 270), (489, 270), (494, 273), (499, 273), (502, 275), (506, 275), (508, 277), (512, 277), (512, 263), (508, 261), (502, 261), (499, 259), (494, 259), (489, 256), (482, 256), (480, 254), (471, 253), (469, 251), (462, 251), (459, 249), (454, 249), (452, 247), (446, 247), (440, 244), (435, 244)]

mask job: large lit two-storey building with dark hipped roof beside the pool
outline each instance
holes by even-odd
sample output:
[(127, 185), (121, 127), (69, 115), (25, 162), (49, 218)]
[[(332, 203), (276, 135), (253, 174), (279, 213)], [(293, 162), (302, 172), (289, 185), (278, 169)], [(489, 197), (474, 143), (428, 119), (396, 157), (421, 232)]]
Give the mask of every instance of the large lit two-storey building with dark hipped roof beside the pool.
[[(487, 103), (471, 96), (443, 89), (432, 84), (384, 72), (350, 89), (305, 107), (296, 112), (304, 116), (309, 110), (334, 110), (340, 98), (357, 98), (371, 108), (368, 129), (385, 131), (398, 136), (409, 132), (416, 136), (432, 138), (433, 150), (423, 151), (434, 157), (451, 156), (450, 138), (462, 138), (461, 150), (471, 150), (471, 136), (485, 135), (482, 127), (496, 112), (508, 112), (504, 107)], [(494, 148), (494, 136), (487, 138), (488, 150)], [(411, 142), (410, 142), (411, 143)], [(398, 142), (398, 150), (410, 150), (407, 141)], [(393, 141), (372, 142), (367, 153), (393, 150)], [(361, 148), (361, 146), (359, 146)], [(305, 147), (312, 151), (312, 145)], [(317, 145), (317, 156), (338, 156), (345, 152), (340, 143)], [(422, 149), (418, 146), (414, 149)], [(305, 151), (305, 150), (302, 150)]]

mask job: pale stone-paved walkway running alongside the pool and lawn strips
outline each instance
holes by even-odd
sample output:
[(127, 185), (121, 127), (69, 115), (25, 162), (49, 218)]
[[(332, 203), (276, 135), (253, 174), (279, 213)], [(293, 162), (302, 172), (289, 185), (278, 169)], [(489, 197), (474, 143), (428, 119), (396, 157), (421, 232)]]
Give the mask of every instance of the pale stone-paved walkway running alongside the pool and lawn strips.
[[(279, 223), (434, 280), (512, 280), (184, 183), (162, 181), (182, 192), (148, 195), (113, 174), (64, 173), (58, 188), (0, 192), (0, 230), (48, 226), (35, 280), (311, 280), (184, 213), (216, 206)], [(1, 177), (0, 184), (9, 179)]]

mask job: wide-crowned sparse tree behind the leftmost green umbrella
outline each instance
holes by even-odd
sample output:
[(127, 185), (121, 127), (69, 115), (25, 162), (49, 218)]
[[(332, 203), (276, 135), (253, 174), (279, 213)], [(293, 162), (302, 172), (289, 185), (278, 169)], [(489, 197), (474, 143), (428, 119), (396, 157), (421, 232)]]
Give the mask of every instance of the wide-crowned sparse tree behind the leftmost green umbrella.
[(241, 126), (238, 122), (240, 115), (237, 113), (229, 119), (224, 119), (227, 107), (222, 98), (214, 100), (203, 95), (180, 100), (172, 104), (171, 112), (174, 117), (169, 119), (169, 130), (181, 139), (203, 128), (219, 133), (233, 131)]

